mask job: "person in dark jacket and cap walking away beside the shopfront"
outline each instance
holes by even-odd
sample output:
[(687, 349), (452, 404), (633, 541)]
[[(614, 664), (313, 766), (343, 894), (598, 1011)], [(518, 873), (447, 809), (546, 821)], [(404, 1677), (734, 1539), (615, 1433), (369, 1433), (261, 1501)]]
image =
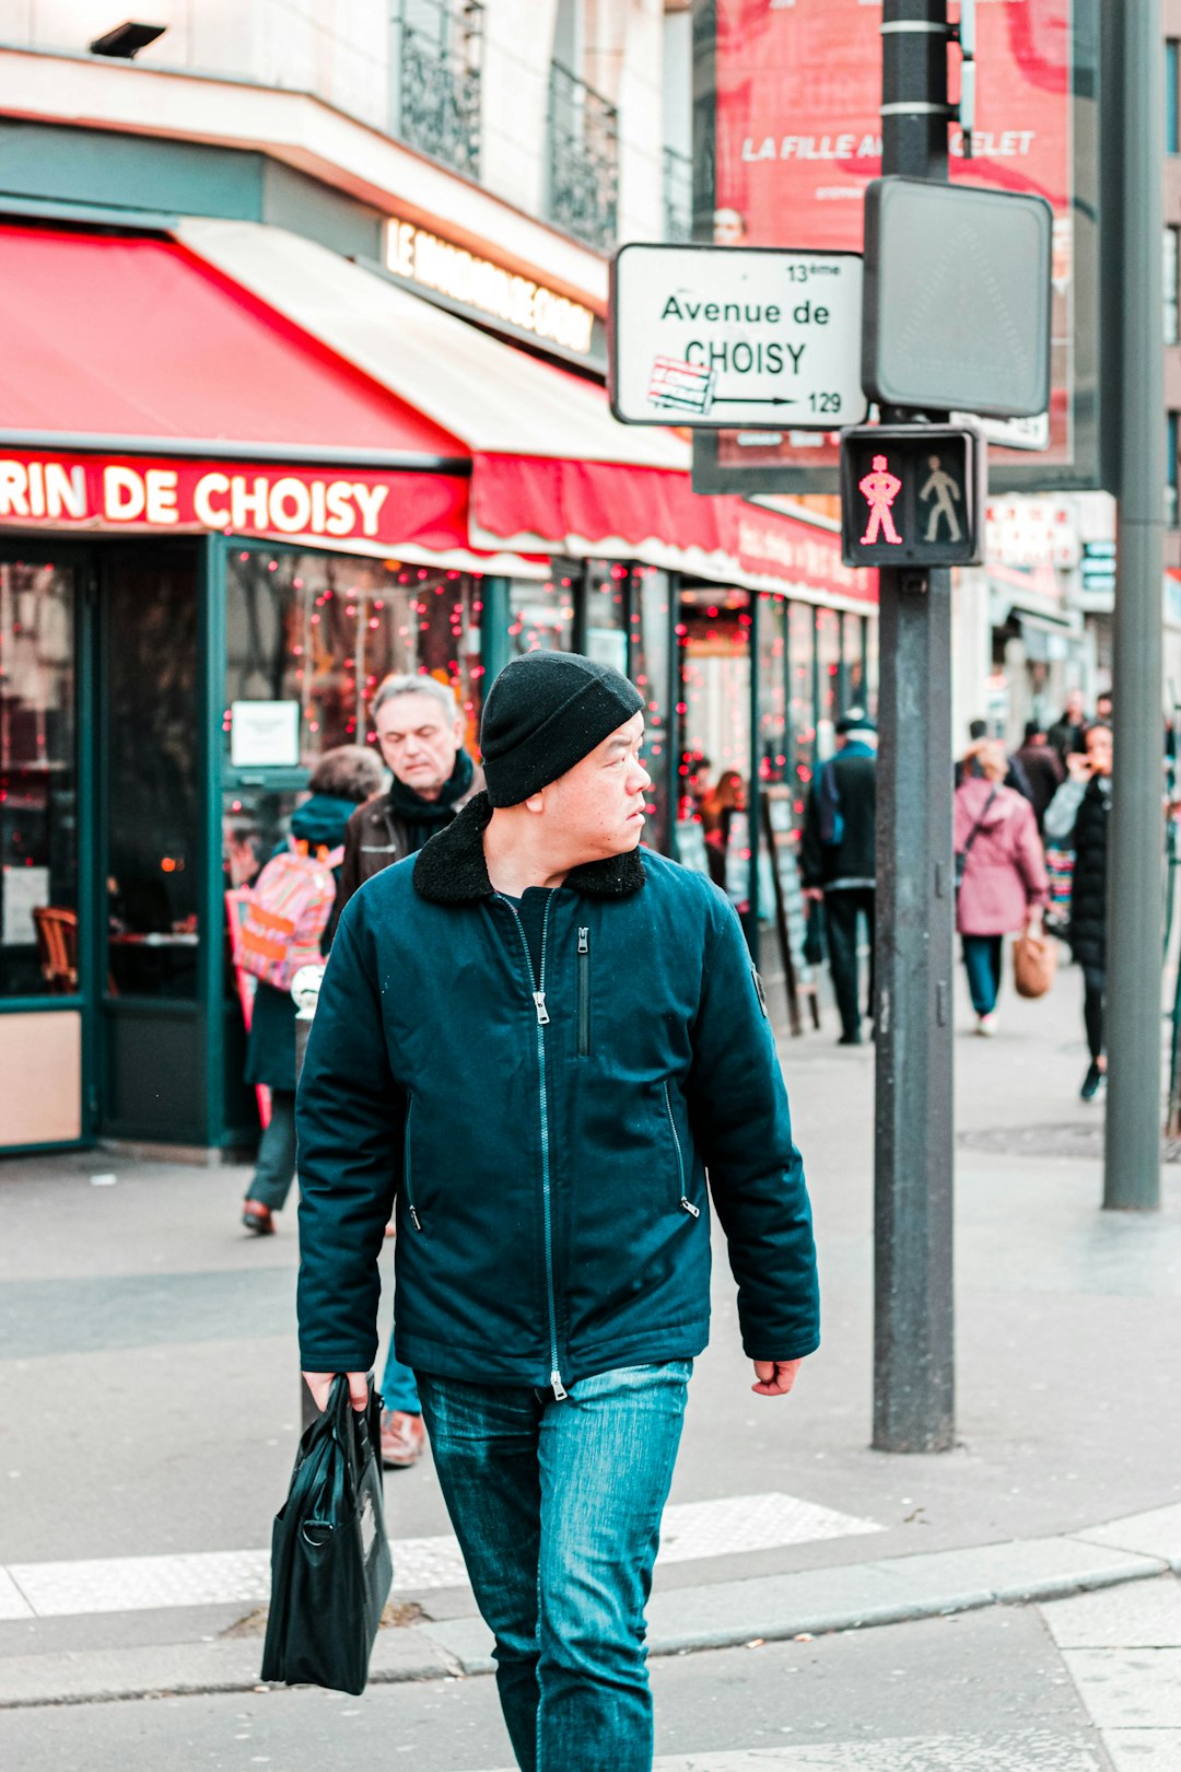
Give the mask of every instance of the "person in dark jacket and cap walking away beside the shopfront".
[(823, 898), (839, 1044), (861, 1045), (857, 925), (862, 916), (869, 927), (868, 1014), (873, 1014), (878, 730), (853, 707), (838, 719), (836, 742), (836, 755), (822, 764), (807, 794), (800, 875), (804, 897)]

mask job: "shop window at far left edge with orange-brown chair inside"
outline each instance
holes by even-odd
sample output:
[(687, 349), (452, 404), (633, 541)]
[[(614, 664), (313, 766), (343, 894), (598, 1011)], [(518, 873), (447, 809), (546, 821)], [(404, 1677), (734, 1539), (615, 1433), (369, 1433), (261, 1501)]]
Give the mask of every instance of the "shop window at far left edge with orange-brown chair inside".
[(74, 578), (0, 565), (0, 996), (78, 987)]

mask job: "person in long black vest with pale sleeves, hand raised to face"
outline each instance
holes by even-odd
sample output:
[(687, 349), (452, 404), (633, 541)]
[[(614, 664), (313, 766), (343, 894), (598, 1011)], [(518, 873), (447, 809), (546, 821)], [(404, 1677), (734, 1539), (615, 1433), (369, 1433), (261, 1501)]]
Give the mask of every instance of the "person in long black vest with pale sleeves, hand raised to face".
[(1069, 778), (1050, 801), (1046, 838), (1071, 843), (1075, 851), (1069, 944), (1075, 962), (1082, 968), (1082, 1019), (1091, 1054), (1080, 1095), (1091, 1102), (1107, 1081), (1103, 996), (1107, 991), (1107, 833), (1112, 813), (1110, 727), (1089, 727), (1085, 746), (1082, 757), (1066, 758)]

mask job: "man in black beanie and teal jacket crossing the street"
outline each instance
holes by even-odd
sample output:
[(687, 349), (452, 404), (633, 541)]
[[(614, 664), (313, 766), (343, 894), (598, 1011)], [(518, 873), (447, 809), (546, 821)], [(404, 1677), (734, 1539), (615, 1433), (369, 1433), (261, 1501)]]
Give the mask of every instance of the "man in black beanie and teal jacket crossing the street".
[(652, 1767), (645, 1602), (710, 1198), (754, 1391), (784, 1396), (818, 1345), (758, 982), (722, 893), (637, 847), (641, 744), (618, 672), (501, 672), (487, 794), (349, 904), (299, 1093), (308, 1384), (365, 1398), (397, 1205), (398, 1352), (526, 1772)]

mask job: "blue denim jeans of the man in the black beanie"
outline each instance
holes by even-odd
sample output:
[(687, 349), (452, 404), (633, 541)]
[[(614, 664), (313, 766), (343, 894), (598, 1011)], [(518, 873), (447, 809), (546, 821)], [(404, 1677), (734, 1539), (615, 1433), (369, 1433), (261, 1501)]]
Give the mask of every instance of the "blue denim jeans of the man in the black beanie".
[(522, 1772), (652, 1772), (645, 1605), (692, 1361), (549, 1391), (418, 1373)]

